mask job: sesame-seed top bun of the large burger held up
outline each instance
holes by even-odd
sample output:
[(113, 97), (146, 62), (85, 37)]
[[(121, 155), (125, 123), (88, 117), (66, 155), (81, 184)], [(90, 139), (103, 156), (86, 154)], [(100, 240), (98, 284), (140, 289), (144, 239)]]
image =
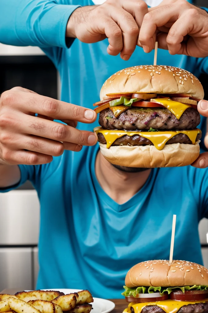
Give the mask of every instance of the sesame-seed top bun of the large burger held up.
[(193, 74), (164, 65), (133, 66), (118, 71), (103, 84), (100, 99), (113, 93), (189, 94), (204, 98), (203, 87)]

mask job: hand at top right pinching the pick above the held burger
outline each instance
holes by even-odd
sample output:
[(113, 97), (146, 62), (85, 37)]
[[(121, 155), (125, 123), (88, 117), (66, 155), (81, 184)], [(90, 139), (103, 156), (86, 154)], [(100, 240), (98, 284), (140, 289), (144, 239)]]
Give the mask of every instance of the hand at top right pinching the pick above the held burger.
[(208, 14), (186, 0), (164, 0), (144, 16), (139, 45), (150, 52), (156, 38), (159, 48), (168, 49), (170, 54), (206, 57)]

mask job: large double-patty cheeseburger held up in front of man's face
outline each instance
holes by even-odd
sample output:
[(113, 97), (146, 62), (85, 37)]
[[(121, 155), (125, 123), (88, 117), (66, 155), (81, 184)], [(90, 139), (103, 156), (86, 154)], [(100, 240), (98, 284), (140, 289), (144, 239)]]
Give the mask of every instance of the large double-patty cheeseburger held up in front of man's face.
[(125, 167), (172, 167), (200, 153), (200, 81), (171, 66), (134, 66), (109, 77), (94, 105), (101, 153)]

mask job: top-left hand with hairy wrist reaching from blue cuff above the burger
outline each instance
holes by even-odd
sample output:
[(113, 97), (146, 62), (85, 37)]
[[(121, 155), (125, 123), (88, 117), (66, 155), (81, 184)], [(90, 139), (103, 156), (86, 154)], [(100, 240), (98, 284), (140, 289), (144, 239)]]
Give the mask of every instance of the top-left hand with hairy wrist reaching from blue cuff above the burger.
[(138, 44), (139, 29), (148, 6), (143, 0), (107, 0), (101, 5), (76, 9), (70, 16), (66, 36), (84, 43), (108, 38), (107, 52), (128, 60)]

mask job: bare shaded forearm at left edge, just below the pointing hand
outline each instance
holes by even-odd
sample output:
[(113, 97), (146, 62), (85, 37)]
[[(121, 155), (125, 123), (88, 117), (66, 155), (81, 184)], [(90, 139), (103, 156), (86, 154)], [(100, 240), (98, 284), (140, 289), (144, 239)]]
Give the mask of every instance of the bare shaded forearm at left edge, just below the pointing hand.
[(0, 188), (13, 186), (20, 181), (18, 165), (0, 164)]

